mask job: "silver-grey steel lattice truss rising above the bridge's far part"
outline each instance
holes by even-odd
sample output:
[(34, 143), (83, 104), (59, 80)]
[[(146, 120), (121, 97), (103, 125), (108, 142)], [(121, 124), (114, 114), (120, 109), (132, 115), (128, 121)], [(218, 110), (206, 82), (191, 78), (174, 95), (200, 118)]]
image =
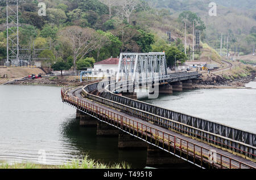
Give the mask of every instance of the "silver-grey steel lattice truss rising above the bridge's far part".
[(167, 75), (165, 53), (121, 53), (116, 80), (155, 78)]

